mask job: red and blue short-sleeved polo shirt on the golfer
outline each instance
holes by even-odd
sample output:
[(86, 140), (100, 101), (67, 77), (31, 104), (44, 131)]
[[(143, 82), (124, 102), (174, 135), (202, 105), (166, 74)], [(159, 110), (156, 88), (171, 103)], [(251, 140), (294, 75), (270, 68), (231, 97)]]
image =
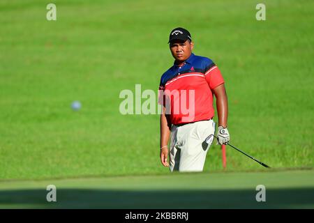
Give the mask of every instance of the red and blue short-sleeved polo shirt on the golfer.
[[(191, 54), (183, 66), (174, 63), (161, 76), (158, 103), (170, 107), (166, 114), (173, 125), (209, 120), (214, 117), (212, 90), (223, 83), (223, 76), (211, 59)], [(191, 109), (192, 117), (187, 112)]]

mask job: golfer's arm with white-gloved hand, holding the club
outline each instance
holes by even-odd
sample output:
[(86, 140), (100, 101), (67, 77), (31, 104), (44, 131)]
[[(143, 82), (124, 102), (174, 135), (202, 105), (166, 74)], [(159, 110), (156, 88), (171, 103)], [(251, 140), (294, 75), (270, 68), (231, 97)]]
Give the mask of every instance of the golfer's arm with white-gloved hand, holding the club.
[(225, 84), (220, 84), (214, 89), (216, 97), (217, 113), (218, 113), (218, 133), (217, 139), (220, 145), (228, 144), (230, 134), (227, 130), (228, 118), (228, 102), (227, 93), (225, 92)]

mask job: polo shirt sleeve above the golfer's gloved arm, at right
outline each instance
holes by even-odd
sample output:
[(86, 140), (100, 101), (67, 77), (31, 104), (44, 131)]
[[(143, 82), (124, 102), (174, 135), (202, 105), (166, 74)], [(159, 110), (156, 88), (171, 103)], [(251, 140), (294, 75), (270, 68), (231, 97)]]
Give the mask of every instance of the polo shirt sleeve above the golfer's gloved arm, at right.
[(209, 85), (209, 88), (215, 89), (217, 86), (220, 84), (225, 83), (223, 79), (223, 75), (221, 75), (221, 72), (219, 68), (216, 66), (216, 64), (208, 59), (205, 63), (205, 68), (204, 68), (204, 75), (205, 79), (207, 81), (207, 84)]

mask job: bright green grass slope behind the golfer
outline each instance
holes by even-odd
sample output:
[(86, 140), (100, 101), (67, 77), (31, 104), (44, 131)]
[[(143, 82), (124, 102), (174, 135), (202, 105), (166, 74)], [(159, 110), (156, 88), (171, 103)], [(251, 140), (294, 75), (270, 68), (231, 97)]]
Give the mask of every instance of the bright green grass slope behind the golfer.
[[(122, 116), (119, 93), (157, 91), (167, 36), (190, 30), (195, 54), (225, 77), (232, 144), (274, 168), (313, 164), (313, 1), (0, 3), (0, 179), (167, 174), (158, 115)], [(70, 110), (73, 100), (80, 112)], [(205, 172), (221, 169), (218, 146)], [(227, 148), (227, 171), (262, 170)]]

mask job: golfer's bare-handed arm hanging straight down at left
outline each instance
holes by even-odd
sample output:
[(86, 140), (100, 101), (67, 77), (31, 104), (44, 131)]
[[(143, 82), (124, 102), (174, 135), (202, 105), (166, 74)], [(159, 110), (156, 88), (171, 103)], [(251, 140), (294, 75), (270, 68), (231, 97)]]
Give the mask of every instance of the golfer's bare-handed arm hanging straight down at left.
[(167, 120), (165, 116), (165, 107), (163, 107), (163, 112), (160, 114), (160, 161), (165, 167), (169, 167), (167, 162), (168, 157), (168, 141), (170, 138), (171, 123)]

